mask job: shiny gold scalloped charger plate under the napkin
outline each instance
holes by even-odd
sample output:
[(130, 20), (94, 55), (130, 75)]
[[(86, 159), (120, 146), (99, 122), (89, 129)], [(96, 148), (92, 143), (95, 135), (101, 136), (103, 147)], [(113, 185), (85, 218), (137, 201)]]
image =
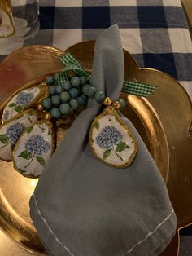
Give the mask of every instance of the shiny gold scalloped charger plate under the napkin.
[[(89, 71), (94, 57), (94, 41), (81, 42), (68, 49)], [(63, 51), (50, 46), (28, 46), (8, 55), (0, 64), (0, 97), (7, 99), (15, 90), (41, 82), (48, 73), (63, 68)], [(192, 222), (192, 139), (191, 103), (185, 90), (172, 77), (151, 68), (138, 68), (124, 51), (125, 79), (136, 79), (158, 86), (147, 99), (123, 95), (127, 99), (124, 115), (136, 126), (168, 185), (178, 228)], [(24, 86), (21, 86), (23, 85)], [(4, 104), (1, 104), (0, 114)], [(185, 113), (185, 114), (184, 114)], [(46, 254), (29, 217), (28, 200), (37, 179), (18, 174), (12, 163), (0, 161), (1, 255)], [(5, 233), (9, 234), (6, 236)], [(10, 238), (11, 237), (11, 238)], [(11, 240), (12, 239), (12, 240)], [(178, 234), (162, 255), (177, 255)]]

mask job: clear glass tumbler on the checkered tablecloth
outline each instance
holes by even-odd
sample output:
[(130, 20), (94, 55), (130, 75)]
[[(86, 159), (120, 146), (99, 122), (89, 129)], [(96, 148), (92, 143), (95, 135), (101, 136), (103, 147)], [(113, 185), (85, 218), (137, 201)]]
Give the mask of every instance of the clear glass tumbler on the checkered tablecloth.
[(39, 30), (38, 0), (0, 0), (0, 55), (23, 46)]

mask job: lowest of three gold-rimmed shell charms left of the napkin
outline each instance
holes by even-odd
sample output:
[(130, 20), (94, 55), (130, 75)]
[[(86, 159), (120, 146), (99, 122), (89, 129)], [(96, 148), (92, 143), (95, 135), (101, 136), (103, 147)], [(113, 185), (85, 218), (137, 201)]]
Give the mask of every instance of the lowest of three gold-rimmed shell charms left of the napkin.
[(38, 121), (18, 139), (13, 152), (14, 168), (24, 177), (38, 178), (53, 152), (53, 125), (50, 121)]

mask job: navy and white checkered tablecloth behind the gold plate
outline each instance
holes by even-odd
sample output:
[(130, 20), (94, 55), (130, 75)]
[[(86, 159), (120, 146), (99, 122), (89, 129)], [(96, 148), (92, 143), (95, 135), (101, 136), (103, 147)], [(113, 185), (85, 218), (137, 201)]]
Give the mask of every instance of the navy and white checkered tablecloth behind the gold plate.
[[(170, 74), (192, 95), (192, 42), (180, 0), (40, 0), (40, 24), (37, 36), (18, 47), (65, 50), (118, 24), (124, 49), (139, 66)], [(0, 41), (0, 60), (5, 55)]]

